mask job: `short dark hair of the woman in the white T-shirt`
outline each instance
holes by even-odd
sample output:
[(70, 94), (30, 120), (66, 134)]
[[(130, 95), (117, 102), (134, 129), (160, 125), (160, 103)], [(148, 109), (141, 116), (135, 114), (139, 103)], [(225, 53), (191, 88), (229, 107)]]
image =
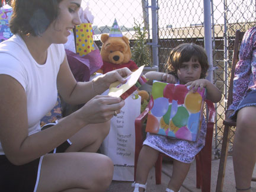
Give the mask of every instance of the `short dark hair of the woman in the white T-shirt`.
[(9, 27), (13, 34), (40, 36), (59, 14), (62, 0), (12, 0)]

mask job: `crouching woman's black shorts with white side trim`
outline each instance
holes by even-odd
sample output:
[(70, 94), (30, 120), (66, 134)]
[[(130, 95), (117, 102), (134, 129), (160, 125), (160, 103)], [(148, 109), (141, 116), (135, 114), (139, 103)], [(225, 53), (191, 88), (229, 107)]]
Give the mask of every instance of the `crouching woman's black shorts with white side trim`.
[[(53, 124), (52, 124), (53, 125)], [(52, 126), (51, 125), (51, 126)], [(50, 126), (44, 127), (48, 128)], [(66, 140), (50, 153), (65, 152), (71, 142)], [(13, 165), (5, 155), (0, 155), (0, 191), (33, 192), (37, 190), (43, 156), (25, 165)]]

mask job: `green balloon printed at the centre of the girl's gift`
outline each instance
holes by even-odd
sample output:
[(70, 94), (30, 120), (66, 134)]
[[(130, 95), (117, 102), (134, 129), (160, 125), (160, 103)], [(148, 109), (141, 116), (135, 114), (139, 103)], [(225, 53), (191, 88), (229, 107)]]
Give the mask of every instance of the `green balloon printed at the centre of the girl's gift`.
[(189, 113), (187, 109), (183, 106), (178, 107), (177, 113), (172, 118), (172, 122), (177, 127), (183, 127), (187, 125)]

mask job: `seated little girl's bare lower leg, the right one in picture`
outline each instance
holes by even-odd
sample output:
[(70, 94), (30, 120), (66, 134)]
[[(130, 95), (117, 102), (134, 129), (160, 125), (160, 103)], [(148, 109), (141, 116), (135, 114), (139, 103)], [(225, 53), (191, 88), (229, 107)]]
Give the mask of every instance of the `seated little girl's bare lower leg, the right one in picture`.
[(175, 192), (180, 190), (185, 177), (187, 177), (191, 164), (177, 161), (174, 159), (171, 180), (168, 183), (168, 188)]

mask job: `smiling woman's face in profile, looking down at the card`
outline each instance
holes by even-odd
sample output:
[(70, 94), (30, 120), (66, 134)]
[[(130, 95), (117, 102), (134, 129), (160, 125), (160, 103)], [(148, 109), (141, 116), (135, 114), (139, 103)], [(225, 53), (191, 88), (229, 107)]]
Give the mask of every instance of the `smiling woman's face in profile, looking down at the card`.
[(59, 15), (46, 30), (52, 43), (66, 43), (71, 30), (81, 24), (79, 8), (82, 0), (63, 0), (59, 3)]

